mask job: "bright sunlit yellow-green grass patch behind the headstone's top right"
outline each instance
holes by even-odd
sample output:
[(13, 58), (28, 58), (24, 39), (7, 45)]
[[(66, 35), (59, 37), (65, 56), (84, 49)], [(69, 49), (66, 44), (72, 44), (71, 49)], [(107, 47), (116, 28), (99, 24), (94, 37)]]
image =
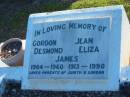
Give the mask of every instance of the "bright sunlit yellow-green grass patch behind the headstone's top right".
[(130, 0), (78, 0), (72, 3), (70, 9), (101, 7), (111, 5), (124, 5), (128, 18), (130, 19)]

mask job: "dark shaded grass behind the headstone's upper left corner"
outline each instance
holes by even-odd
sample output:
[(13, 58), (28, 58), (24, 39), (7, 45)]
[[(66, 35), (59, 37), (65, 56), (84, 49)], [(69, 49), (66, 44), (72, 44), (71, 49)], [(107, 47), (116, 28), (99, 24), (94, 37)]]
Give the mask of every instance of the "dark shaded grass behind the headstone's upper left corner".
[(25, 39), (30, 14), (66, 10), (72, 4), (66, 0), (35, 1), (37, 2), (28, 0), (28, 2), (3, 2), (0, 4), (0, 42), (13, 37)]

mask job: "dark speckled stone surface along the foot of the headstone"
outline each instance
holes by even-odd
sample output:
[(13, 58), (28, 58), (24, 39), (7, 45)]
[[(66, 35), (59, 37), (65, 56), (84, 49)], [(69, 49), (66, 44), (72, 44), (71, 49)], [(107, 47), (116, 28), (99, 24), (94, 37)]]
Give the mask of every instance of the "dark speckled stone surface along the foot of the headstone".
[(20, 82), (7, 82), (2, 97), (130, 97), (130, 84), (125, 84), (120, 91), (110, 92), (54, 92), (38, 90), (21, 90)]

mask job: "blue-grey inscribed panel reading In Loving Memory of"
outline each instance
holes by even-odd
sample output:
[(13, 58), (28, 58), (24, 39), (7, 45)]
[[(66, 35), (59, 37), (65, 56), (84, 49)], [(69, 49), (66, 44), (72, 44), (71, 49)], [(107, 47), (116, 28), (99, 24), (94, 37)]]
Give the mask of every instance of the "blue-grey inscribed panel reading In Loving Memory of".
[(33, 25), (30, 79), (107, 79), (110, 17)]

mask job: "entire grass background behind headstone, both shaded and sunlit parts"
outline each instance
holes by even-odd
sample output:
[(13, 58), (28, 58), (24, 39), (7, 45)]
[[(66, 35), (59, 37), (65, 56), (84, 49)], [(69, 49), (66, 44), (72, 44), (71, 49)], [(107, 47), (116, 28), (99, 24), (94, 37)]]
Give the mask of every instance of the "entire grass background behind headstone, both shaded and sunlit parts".
[(25, 39), (31, 13), (109, 5), (124, 5), (130, 20), (130, 0), (0, 0), (0, 42), (12, 37)]

